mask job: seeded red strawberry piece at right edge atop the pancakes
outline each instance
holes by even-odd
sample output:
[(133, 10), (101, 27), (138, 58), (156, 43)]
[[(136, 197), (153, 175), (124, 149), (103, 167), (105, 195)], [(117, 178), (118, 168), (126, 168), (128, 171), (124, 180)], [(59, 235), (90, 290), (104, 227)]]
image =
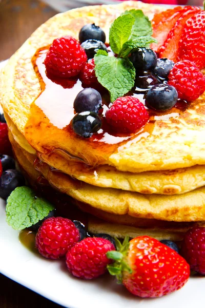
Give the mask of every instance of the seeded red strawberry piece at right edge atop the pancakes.
[(201, 69), (205, 67), (205, 12), (189, 18), (179, 41), (179, 59), (193, 61)]

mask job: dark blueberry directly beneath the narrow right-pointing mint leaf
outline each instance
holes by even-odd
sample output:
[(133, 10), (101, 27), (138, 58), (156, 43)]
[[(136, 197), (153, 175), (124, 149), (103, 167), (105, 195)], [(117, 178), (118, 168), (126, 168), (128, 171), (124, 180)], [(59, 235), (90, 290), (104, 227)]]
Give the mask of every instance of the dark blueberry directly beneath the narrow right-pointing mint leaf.
[(152, 70), (157, 65), (157, 55), (150, 48), (137, 48), (130, 55), (130, 60), (136, 70)]

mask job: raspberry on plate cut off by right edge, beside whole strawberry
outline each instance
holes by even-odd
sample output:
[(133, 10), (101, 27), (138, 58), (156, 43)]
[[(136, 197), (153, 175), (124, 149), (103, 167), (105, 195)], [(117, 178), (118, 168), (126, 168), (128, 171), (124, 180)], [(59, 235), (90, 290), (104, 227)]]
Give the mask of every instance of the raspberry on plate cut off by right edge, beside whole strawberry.
[(192, 271), (205, 275), (205, 228), (195, 227), (185, 234), (181, 244), (181, 255)]

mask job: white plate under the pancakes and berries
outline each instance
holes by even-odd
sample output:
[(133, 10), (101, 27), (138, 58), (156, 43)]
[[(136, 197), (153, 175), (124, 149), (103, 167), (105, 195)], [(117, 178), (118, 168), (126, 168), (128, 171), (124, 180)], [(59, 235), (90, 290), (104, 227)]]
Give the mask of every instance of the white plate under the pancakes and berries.
[[(5, 62), (0, 63), (0, 68)], [(34, 292), (68, 308), (173, 308), (201, 306), (205, 277), (191, 277), (179, 291), (158, 299), (140, 299), (115, 283), (108, 274), (93, 281), (69, 275), (65, 261), (47, 260), (18, 240), (18, 231), (6, 223), (0, 199), (0, 272)]]

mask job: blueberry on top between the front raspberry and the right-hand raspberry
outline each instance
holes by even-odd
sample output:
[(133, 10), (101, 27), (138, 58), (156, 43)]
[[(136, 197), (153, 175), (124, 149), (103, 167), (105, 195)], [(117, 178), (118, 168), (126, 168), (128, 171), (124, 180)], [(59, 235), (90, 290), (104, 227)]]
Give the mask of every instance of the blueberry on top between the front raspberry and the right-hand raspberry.
[(145, 103), (155, 110), (168, 110), (176, 104), (177, 99), (177, 90), (173, 86), (159, 84), (148, 90)]

